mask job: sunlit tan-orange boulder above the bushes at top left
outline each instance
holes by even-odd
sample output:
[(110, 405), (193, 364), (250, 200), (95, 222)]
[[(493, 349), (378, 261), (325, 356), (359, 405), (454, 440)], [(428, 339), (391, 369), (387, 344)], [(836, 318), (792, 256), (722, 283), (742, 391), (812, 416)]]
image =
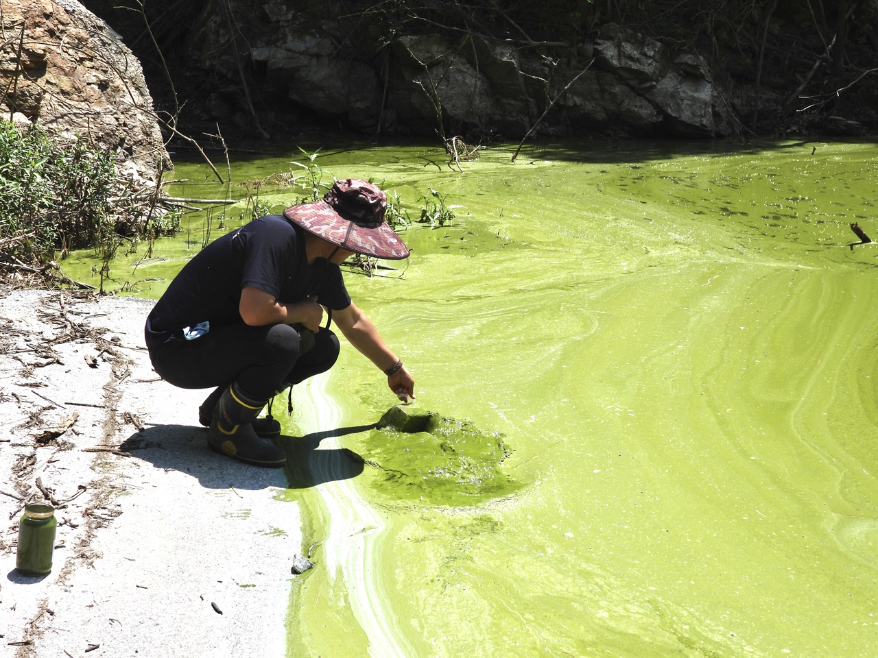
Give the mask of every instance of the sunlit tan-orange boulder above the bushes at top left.
[(2, 10), (0, 111), (87, 136), (148, 177), (171, 166), (140, 62), (116, 32), (76, 0), (3, 0)]

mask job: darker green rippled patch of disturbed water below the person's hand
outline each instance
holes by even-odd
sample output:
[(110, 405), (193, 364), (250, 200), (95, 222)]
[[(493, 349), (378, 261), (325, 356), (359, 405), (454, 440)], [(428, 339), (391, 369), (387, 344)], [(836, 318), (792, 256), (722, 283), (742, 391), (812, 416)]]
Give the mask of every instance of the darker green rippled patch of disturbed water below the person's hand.
[(369, 488), (388, 500), (462, 507), (522, 487), (501, 467), (512, 451), (500, 433), (415, 404), (393, 407), (366, 438)]

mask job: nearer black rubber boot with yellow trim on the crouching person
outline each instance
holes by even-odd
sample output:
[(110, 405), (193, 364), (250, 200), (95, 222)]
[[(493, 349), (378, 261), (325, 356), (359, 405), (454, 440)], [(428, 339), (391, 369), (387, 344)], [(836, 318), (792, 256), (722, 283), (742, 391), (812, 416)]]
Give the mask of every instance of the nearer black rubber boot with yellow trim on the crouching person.
[(220, 394), (213, 410), (207, 445), (218, 453), (255, 466), (283, 466), (286, 462), (284, 451), (271, 440), (256, 434), (251, 425), (264, 405), (264, 400), (248, 397), (233, 383)]

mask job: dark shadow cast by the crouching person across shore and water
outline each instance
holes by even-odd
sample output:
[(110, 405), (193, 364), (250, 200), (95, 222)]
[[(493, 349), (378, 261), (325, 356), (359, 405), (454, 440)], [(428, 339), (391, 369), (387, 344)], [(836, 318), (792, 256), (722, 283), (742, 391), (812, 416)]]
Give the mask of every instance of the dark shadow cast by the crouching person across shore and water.
[(348, 448), (319, 450), (330, 437), (364, 432), (374, 425), (339, 427), (305, 436), (281, 436), (286, 467), (260, 468), (236, 461), (207, 447), (204, 427), (150, 425), (132, 433), (119, 450), (155, 468), (181, 471), (198, 478), (205, 489), (260, 490), (267, 487), (308, 489), (320, 483), (349, 480), (363, 473), (363, 458)]

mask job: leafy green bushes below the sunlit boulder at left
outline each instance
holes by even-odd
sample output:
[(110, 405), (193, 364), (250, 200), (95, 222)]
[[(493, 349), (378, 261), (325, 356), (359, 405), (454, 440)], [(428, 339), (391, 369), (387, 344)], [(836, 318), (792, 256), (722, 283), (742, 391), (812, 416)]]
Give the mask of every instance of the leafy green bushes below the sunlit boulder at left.
[(135, 249), (175, 232), (179, 214), (144, 186), (119, 175), (112, 151), (82, 137), (0, 120), (0, 271), (45, 272), (56, 254), (84, 247), (106, 263), (126, 241)]

